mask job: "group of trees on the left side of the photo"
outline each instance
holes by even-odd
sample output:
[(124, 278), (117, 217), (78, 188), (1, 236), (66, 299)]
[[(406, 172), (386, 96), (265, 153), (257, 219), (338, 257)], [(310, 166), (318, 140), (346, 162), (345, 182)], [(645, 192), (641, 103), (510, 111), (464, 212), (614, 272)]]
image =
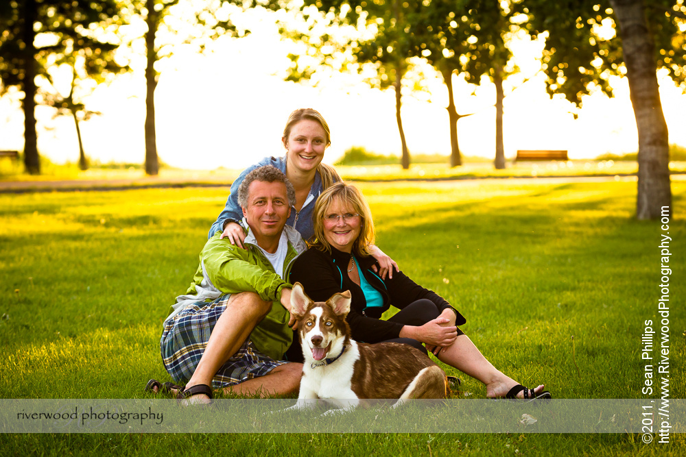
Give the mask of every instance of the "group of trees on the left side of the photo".
[[(128, 24), (134, 16), (145, 18), (146, 45), (146, 116), (145, 116), (145, 171), (158, 174), (159, 159), (155, 135), (154, 92), (159, 77), (155, 64), (161, 56), (170, 55), (173, 46), (160, 42), (158, 31), (165, 26), (165, 17), (180, 0), (3, 0), (0, 1), (0, 95), (12, 86), (23, 92), (24, 112), (24, 164), (27, 173), (40, 173), (40, 157), (36, 135), (36, 100), (53, 106), (58, 114), (69, 114), (75, 121), (79, 140), (79, 165), (86, 169), (87, 160), (80, 134), (80, 121), (86, 121), (96, 112), (86, 110), (76, 95), (80, 82), (92, 79), (103, 82), (108, 74), (130, 71), (127, 63), (117, 60), (117, 49), (129, 43), (119, 39), (119, 27)], [(239, 35), (227, 20), (226, 5), (241, 4), (238, 0), (209, 0), (200, 3), (192, 17), (184, 20), (191, 28), (191, 36), (184, 43), (195, 41), (199, 50), (207, 40), (222, 34)], [(198, 5), (198, 3), (196, 3)], [(218, 12), (222, 12), (217, 16)], [(202, 33), (198, 32), (202, 30)], [(40, 35), (41, 39), (38, 40)], [(53, 78), (51, 67), (68, 64), (73, 69), (71, 91), (62, 96), (55, 92), (38, 94), (36, 77)], [(40, 97), (38, 97), (40, 95)]]

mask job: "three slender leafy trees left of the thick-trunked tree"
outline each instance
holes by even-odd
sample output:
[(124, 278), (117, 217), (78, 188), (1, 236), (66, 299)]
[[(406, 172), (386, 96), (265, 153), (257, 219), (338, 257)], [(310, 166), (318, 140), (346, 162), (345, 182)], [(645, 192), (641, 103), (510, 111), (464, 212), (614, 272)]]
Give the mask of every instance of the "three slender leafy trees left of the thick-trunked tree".
[[(410, 62), (427, 62), (442, 75), (448, 91), (448, 106), (451, 138), (451, 166), (462, 164), (458, 143), (458, 120), (470, 114), (459, 114), (453, 93), (453, 75), (464, 73), (468, 82), (479, 84), (482, 75), (493, 82), (502, 82), (508, 75), (506, 64), (511, 57), (505, 45), (505, 36), (510, 33), (510, 18), (516, 13), (507, 8), (508, 2), (486, 0), (446, 1), (395, 1), (395, 0), (311, 0), (332, 25), (353, 25), (364, 28), (368, 33), (350, 38), (348, 49), (351, 58), (364, 73), (372, 65), (375, 77), (369, 79), (372, 87), (394, 86), (397, 96), (397, 118), (403, 143), (403, 166), (409, 164), (404, 133), (402, 129), (401, 79)], [(297, 36), (297, 39), (314, 45), (318, 49), (320, 63), (333, 66), (335, 60), (329, 35), (316, 36), (316, 26)], [(369, 34), (370, 33), (370, 34)], [(366, 36), (365, 36), (366, 35)], [(335, 41), (335, 40), (333, 40)], [(337, 44), (333, 49), (345, 48)], [(292, 56), (298, 60), (300, 56)], [(338, 62), (336, 62), (338, 63)], [(339, 63), (339, 66), (340, 63)], [(314, 70), (296, 65), (291, 79), (311, 77)], [(501, 98), (499, 107), (502, 107)], [(501, 109), (496, 123), (501, 162), (504, 162), (502, 148)], [(407, 157), (409, 158), (409, 157)], [(504, 166), (504, 164), (503, 164)]]

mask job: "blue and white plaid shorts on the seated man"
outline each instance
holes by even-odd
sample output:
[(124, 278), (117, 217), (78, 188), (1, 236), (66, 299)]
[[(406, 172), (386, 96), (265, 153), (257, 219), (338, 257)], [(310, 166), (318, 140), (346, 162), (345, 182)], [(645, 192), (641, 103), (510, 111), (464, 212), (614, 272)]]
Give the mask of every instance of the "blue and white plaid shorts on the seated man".
[[(191, 379), (230, 297), (230, 294), (222, 295), (211, 303), (196, 301), (165, 322), (160, 349), (165, 368), (175, 381), (186, 383)], [(285, 363), (262, 354), (248, 338), (217, 371), (212, 379), (212, 387), (233, 386), (258, 378)]]

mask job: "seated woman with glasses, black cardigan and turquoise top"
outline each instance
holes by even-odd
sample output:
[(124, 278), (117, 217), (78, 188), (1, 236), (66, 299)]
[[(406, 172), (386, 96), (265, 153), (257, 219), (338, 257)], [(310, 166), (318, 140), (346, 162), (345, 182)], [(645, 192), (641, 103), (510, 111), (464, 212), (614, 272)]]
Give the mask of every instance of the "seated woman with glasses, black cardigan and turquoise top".
[[(346, 320), (353, 339), (364, 343), (395, 341), (431, 351), (439, 360), (486, 384), (490, 398), (549, 398), (543, 385), (526, 388), (484, 358), (457, 327), (462, 314), (434, 291), (419, 286), (398, 271), (393, 277), (375, 273), (370, 255), (374, 222), (369, 205), (355, 186), (337, 182), (324, 190), (314, 207), (314, 241), (293, 264), (288, 282), (300, 282), (314, 301), (351, 292)], [(381, 314), (391, 306), (399, 311), (388, 320)], [(295, 339), (287, 352), (292, 361), (303, 352)]]

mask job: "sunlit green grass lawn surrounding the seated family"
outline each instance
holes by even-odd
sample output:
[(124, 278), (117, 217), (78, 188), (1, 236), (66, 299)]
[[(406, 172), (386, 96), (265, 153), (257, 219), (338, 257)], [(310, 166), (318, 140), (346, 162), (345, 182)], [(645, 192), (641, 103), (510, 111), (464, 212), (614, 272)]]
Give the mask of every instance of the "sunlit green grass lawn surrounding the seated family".
[[(556, 398), (644, 397), (640, 337), (643, 321), (657, 317), (662, 231), (633, 219), (635, 182), (360, 187), (379, 247), (466, 316), (462, 329), (496, 367), (523, 384), (545, 382)], [(169, 380), (161, 323), (185, 292), (227, 192), (0, 195), (0, 396), (141, 398), (149, 378)], [(673, 182), (672, 192), (676, 310), (686, 296), (686, 182)], [(686, 319), (683, 312), (670, 319), (672, 397), (683, 398)], [(479, 382), (461, 378), (458, 397), (486, 397)], [(18, 434), (0, 436), (0, 453), (683, 455), (683, 435), (672, 441), (643, 445), (632, 434)]]

